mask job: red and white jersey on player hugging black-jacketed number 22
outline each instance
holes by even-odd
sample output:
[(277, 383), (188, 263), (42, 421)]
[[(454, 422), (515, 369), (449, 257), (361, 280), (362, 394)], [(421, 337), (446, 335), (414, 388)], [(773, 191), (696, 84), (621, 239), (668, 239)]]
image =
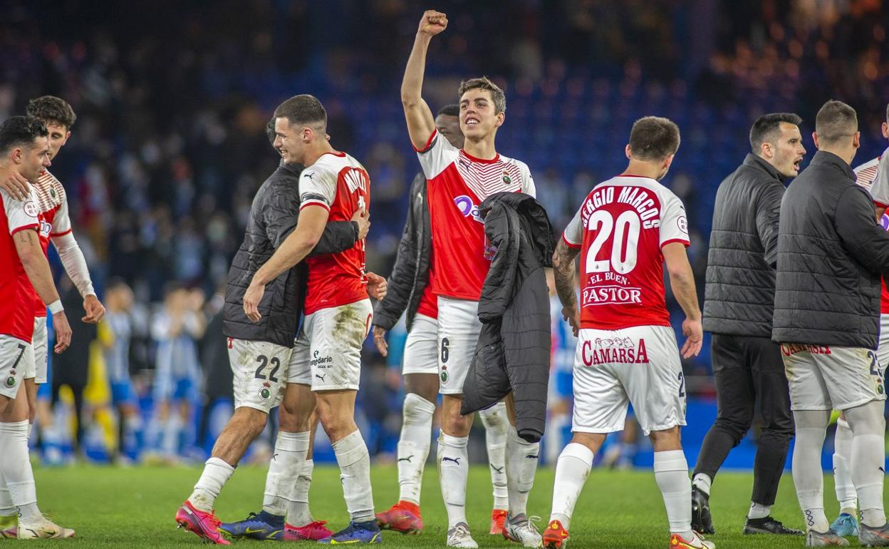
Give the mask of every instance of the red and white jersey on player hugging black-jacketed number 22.
[[(349, 221), (356, 211), (371, 208), (371, 178), (355, 158), (329, 152), (300, 174), (300, 212), (320, 206), (328, 221)], [(367, 299), (364, 240), (345, 252), (309, 257), (305, 313)]]

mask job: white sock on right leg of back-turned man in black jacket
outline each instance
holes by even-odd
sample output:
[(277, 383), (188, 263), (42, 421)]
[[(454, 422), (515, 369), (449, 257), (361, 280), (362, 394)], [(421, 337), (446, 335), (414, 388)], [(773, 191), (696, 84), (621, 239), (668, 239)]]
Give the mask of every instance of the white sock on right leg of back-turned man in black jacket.
[(861, 522), (871, 528), (885, 525), (883, 510), (883, 479), (885, 472), (885, 402), (874, 400), (860, 407), (845, 410), (852, 426), (852, 481), (858, 492)]

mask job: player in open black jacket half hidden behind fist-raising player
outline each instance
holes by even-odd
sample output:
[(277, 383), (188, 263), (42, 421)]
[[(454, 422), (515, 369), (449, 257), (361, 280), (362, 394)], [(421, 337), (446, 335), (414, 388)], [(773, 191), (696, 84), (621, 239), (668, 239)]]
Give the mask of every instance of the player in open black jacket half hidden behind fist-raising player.
[[(457, 149), (463, 148), (460, 106), (438, 110), (436, 132)], [(420, 484), (429, 454), (429, 432), (438, 395), (438, 303), (430, 279), (432, 233), (429, 225), (426, 176), (420, 172), (411, 185), (411, 209), (395, 266), (389, 276), (390, 291), (373, 311), (373, 340), (385, 357), (385, 335), (407, 310), (407, 342), (404, 343), (404, 423), (398, 440), (398, 503), (377, 513), (380, 528), (412, 534), (423, 529), (420, 517)], [(485, 424), (485, 442), (493, 482), (494, 505), (491, 533), (501, 534), (509, 505), (504, 461), (508, 418), (499, 403), (479, 413)]]

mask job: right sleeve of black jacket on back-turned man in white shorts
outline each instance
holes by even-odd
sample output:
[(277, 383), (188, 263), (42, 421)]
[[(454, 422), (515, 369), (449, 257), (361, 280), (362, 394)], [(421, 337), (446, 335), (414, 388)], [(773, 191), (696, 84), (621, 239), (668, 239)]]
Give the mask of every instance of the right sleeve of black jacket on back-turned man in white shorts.
[(873, 273), (889, 274), (889, 232), (877, 225), (868, 191), (855, 185), (837, 202), (837, 234), (856, 261)]

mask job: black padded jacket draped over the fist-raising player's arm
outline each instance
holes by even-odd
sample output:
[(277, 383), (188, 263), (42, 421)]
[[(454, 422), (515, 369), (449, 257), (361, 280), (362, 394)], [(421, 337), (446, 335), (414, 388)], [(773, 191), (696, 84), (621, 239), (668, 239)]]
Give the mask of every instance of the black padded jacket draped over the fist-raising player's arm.
[(556, 247), (546, 210), (530, 195), (499, 192), (479, 206), (493, 252), (482, 287), (476, 353), (463, 383), (461, 414), (490, 408), (510, 391), (518, 436), (543, 436), (549, 389), (549, 289), (544, 267)]

